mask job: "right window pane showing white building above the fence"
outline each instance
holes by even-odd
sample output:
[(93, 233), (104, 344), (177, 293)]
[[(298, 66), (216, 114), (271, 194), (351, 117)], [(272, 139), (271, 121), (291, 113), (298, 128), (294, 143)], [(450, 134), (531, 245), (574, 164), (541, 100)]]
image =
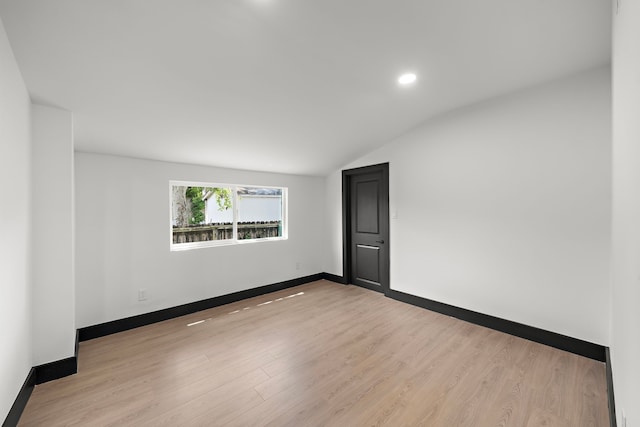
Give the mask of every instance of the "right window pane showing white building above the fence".
[(238, 187), (238, 240), (282, 237), (281, 188)]

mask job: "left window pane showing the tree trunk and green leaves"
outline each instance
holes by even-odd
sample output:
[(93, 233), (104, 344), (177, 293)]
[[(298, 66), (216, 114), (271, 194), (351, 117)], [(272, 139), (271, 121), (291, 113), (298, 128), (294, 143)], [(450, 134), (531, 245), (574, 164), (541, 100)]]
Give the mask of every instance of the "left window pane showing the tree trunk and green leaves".
[(228, 187), (171, 188), (173, 243), (233, 239), (233, 196)]

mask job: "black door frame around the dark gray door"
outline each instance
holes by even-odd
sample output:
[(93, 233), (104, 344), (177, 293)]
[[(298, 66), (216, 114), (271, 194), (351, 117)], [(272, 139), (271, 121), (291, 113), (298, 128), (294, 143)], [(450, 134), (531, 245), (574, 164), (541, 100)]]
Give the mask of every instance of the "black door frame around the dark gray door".
[[(389, 210), (389, 163), (379, 163), (376, 165), (362, 166), (354, 169), (342, 171), (342, 277), (346, 284), (351, 283), (351, 178), (356, 175), (382, 172), (382, 192), (381, 195), (387, 199), (387, 210)], [(387, 256), (382, 260), (384, 263), (382, 289), (384, 295), (390, 290), (389, 267), (390, 267), (390, 245), (389, 245), (389, 212), (386, 221), (380, 224), (384, 244), (386, 245)]]

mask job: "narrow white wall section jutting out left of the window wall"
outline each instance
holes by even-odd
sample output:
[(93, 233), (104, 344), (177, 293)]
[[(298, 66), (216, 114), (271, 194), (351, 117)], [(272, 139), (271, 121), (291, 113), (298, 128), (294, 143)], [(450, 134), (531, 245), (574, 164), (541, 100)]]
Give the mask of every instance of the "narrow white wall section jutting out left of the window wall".
[(32, 106), (33, 363), (75, 352), (73, 122)]

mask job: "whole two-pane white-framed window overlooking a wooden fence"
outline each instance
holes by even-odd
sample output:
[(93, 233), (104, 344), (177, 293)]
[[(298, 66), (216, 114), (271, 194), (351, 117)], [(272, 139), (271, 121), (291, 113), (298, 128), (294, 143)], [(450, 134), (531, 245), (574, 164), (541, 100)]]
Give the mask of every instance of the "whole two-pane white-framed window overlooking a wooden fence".
[(171, 250), (287, 238), (287, 189), (171, 181)]

